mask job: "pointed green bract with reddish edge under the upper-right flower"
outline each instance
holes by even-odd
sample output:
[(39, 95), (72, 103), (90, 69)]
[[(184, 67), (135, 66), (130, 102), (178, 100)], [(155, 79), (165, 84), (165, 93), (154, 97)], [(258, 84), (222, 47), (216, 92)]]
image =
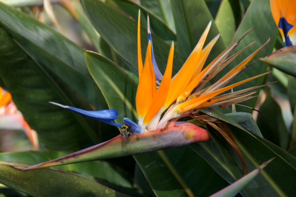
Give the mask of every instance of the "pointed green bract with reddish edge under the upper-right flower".
[(296, 46), (284, 47), (267, 57), (260, 58), (260, 60), (288, 75), (296, 77)]

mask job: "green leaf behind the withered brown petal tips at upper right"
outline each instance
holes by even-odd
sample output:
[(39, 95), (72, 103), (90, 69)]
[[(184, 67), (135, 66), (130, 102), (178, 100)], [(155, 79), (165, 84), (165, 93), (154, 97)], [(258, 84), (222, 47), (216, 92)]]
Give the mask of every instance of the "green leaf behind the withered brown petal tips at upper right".
[[(260, 57), (264, 57), (272, 52), (274, 43), (278, 34), (278, 29), (273, 21), (273, 17), (270, 11), (270, 5), (268, 0), (253, 0), (239, 26), (237, 29), (233, 40), (238, 39), (241, 35), (247, 32), (250, 28), (254, 27), (251, 32), (240, 41), (240, 45), (234, 50), (238, 52), (242, 48), (246, 47), (253, 41), (257, 41), (256, 44), (248, 47), (244, 50), (236, 59), (234, 59), (225, 69), (218, 74), (217, 79), (220, 79), (222, 75), (226, 74), (230, 69), (239, 64), (243, 59), (248, 57), (252, 52), (259, 48), (263, 43), (265, 43), (269, 38), (268, 44), (253, 58), (257, 60)], [(247, 79), (254, 77), (266, 71), (266, 64), (263, 62), (256, 62), (254, 65), (242, 72), (239, 77), (232, 80), (231, 83), (241, 81), (242, 79)], [(251, 86), (261, 85), (263, 78), (258, 78), (249, 81), (248, 83), (238, 86), (239, 89), (244, 89)], [(234, 89), (237, 89), (234, 88)], [(255, 107), (256, 99), (251, 99), (244, 102), (245, 105), (250, 107)], [(251, 112), (247, 108), (239, 108), (240, 111)]]

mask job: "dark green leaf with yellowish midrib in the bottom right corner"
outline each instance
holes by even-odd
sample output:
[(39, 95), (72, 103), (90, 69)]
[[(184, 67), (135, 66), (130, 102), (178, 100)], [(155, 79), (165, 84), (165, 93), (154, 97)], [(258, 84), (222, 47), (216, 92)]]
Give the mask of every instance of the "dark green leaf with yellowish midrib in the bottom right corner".
[[(235, 137), (236, 143), (250, 171), (258, 168), (263, 160), (275, 157), (275, 160), (244, 188), (244, 192), (248, 196), (293, 196), (293, 193), (296, 192), (296, 188), (291, 188), (289, 184), (286, 183), (295, 181), (296, 168), (293, 167), (293, 164), (296, 158), (291, 155), (289, 156), (291, 160), (294, 160), (292, 163), (282, 157), (283, 153), (277, 154), (283, 152), (283, 150), (280, 151), (280, 149), (278, 149), (277, 152), (275, 152), (273, 150), (274, 148), (270, 148), (259, 140), (260, 137), (257, 138), (231, 125), (229, 125), (229, 128)], [(212, 139), (222, 152), (229, 169), (237, 180), (240, 179), (243, 176), (243, 170), (238, 157), (235, 156), (235, 152), (217, 131), (210, 131)], [(281, 172), (280, 174), (278, 173), (279, 171)]]

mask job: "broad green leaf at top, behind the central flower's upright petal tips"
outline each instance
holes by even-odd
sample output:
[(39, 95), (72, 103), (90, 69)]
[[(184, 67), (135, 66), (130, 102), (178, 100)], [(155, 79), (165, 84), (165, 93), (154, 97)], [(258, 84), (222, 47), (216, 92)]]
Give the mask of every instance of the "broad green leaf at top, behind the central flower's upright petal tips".
[[(129, 64), (138, 68), (137, 57), (137, 22), (100, 0), (82, 0), (86, 13), (103, 39)], [(157, 65), (164, 73), (170, 45), (152, 34), (154, 55)], [(147, 29), (141, 26), (142, 56), (147, 49)], [(176, 74), (185, 57), (178, 51), (174, 53), (174, 69)]]

